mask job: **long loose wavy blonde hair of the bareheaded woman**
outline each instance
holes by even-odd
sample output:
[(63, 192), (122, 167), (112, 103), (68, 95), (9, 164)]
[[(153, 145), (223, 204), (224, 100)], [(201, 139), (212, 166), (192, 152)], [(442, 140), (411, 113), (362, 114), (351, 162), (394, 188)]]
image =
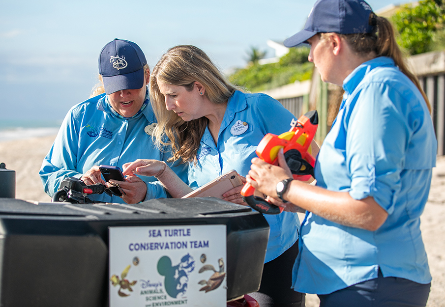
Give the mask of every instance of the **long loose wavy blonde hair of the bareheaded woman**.
[(155, 143), (159, 147), (171, 146), (172, 161), (181, 158), (183, 163), (196, 163), (208, 119), (201, 117), (186, 122), (173, 111), (168, 111), (158, 81), (184, 86), (188, 91), (193, 89), (195, 82), (199, 82), (206, 89), (208, 100), (214, 104), (227, 102), (237, 88), (223, 77), (204, 51), (195, 46), (179, 45), (170, 48), (154, 66), (150, 75), (150, 101), (158, 121), (153, 133)]

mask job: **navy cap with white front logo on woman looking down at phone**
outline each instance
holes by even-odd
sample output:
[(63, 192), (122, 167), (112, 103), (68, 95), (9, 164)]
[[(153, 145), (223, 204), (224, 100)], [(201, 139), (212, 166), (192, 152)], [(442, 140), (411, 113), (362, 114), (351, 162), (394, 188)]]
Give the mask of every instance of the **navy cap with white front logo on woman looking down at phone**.
[(138, 89), (144, 85), (144, 65), (141, 48), (133, 42), (117, 39), (100, 51), (99, 74), (107, 95), (122, 89)]

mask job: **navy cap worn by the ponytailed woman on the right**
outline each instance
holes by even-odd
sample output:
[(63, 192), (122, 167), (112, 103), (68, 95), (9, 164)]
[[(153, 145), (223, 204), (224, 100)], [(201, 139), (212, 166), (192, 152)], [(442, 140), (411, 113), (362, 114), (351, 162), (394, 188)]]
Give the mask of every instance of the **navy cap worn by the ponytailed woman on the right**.
[(284, 41), (284, 46), (295, 47), (317, 33), (371, 33), (369, 22), (372, 8), (363, 0), (318, 0), (307, 17), (304, 28)]

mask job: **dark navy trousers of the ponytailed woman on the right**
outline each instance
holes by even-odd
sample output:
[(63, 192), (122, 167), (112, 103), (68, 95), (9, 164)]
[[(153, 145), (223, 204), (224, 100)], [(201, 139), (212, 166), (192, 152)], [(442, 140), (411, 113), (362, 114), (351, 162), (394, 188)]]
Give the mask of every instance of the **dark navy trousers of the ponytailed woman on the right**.
[(383, 277), (366, 280), (330, 294), (319, 295), (320, 307), (425, 307), (431, 283)]

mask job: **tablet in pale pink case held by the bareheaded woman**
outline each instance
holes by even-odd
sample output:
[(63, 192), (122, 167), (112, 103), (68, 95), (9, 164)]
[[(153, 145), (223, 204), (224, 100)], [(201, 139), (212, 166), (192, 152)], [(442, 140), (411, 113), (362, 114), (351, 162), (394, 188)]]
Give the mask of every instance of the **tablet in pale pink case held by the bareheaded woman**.
[(222, 199), (224, 193), (241, 185), (241, 177), (232, 169), (181, 198), (213, 196)]

